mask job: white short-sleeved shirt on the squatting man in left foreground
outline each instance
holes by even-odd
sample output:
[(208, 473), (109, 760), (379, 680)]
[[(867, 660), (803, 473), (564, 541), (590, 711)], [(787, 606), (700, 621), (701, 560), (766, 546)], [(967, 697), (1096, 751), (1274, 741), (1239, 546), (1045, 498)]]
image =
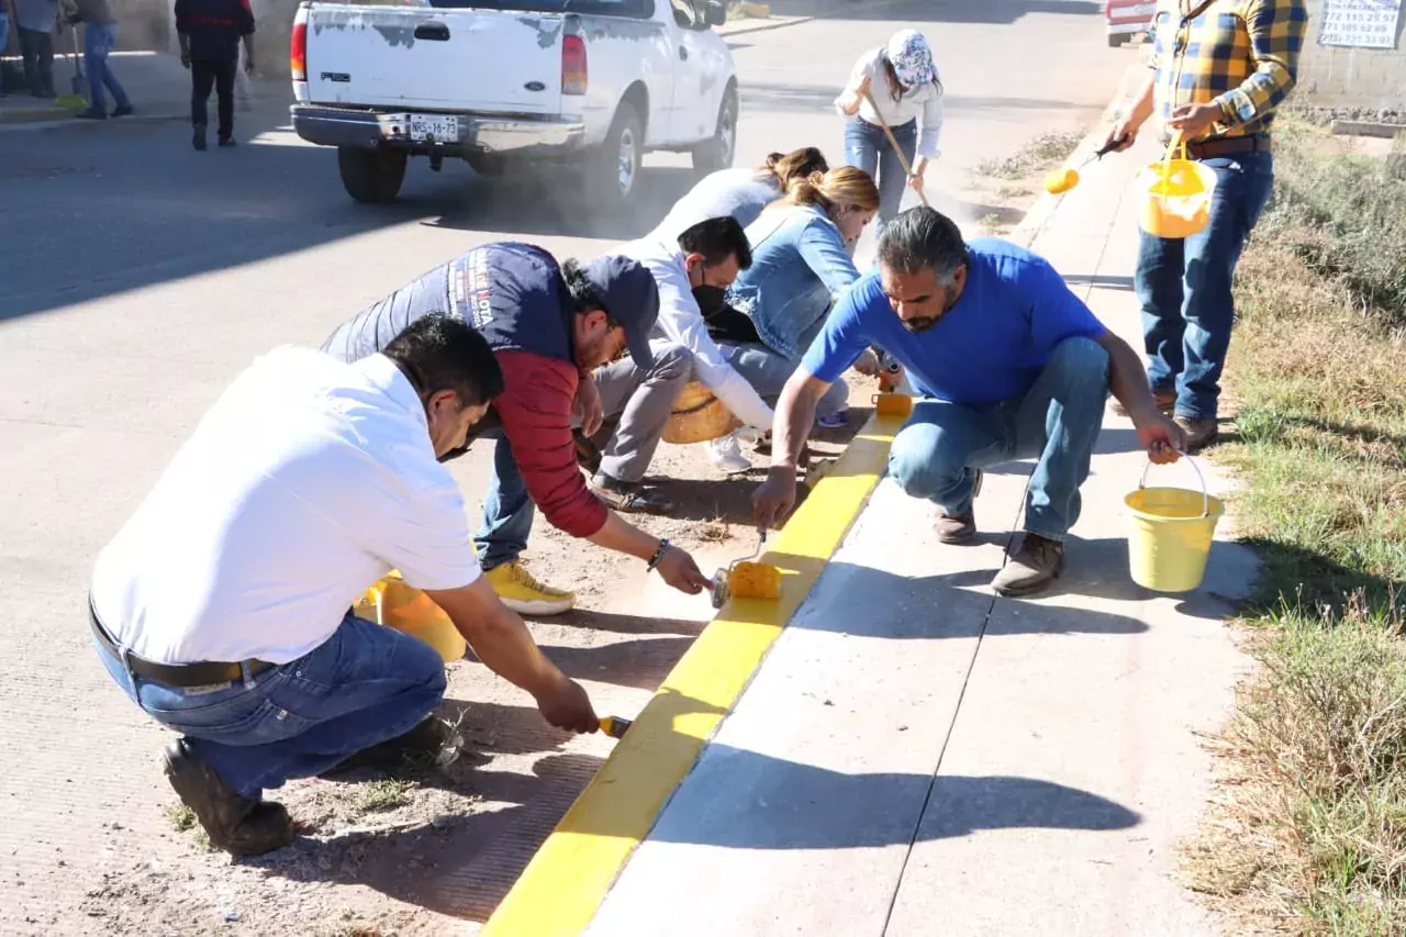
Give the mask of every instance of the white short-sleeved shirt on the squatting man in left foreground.
[(377, 578), (451, 589), (479, 575), (464, 499), (391, 359), (281, 348), (201, 419), (98, 554), (93, 605), (163, 664), (284, 664)]

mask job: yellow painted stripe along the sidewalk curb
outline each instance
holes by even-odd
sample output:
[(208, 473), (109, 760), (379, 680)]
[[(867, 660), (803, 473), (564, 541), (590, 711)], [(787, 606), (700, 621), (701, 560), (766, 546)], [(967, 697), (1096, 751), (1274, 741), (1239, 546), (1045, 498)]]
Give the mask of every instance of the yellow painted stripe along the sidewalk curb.
[(537, 850), (482, 937), (569, 937), (585, 930), (869, 501), (903, 422), (876, 415), (865, 423), (761, 557), (782, 570), (780, 599), (733, 599), (703, 629)]

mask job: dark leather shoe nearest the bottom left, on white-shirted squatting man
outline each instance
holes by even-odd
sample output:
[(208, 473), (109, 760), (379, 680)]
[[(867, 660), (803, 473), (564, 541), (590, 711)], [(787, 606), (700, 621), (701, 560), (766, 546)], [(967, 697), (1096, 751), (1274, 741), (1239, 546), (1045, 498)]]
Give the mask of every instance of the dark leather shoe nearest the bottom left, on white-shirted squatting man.
[(292, 841), (292, 820), (281, 803), (240, 796), (201, 761), (184, 739), (162, 753), (166, 779), (195, 812), (215, 848), (231, 855), (262, 855)]

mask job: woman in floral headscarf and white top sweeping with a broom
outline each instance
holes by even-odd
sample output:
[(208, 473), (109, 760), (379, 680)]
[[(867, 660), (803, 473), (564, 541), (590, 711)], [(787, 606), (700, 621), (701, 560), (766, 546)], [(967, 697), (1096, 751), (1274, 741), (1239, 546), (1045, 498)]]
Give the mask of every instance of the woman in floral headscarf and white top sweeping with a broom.
[[(873, 97), (873, 104), (866, 93)], [(915, 191), (922, 191), (928, 160), (938, 158), (942, 80), (924, 35), (917, 30), (901, 30), (893, 34), (887, 46), (859, 56), (845, 90), (835, 98), (835, 110), (851, 118), (845, 127), (846, 162), (869, 173), (879, 184), (875, 231), (883, 234), (884, 224), (898, 214), (904, 172), (880, 121), (887, 121), (903, 148), (903, 156), (912, 167), (907, 181)]]

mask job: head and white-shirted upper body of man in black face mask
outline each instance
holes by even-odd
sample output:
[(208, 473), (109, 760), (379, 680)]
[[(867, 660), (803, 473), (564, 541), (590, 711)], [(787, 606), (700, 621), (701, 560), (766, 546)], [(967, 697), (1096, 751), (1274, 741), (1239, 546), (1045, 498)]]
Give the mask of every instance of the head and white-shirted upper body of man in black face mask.
[[(756, 432), (769, 429), (772, 408), (747, 377), (728, 363), (714, 339), (714, 335), (751, 329), (749, 319), (725, 302), (727, 287), (752, 266), (752, 249), (742, 225), (727, 215), (709, 218), (688, 228), (673, 242), (645, 236), (624, 245), (619, 253), (638, 260), (654, 274), (659, 284), (659, 322), (655, 331), (689, 350), (693, 377), (713, 391), (744, 426)], [(724, 471), (745, 471), (751, 467), (741, 453), (737, 453), (737, 459), (744, 463), (742, 468), (730, 463), (720, 464), (711, 445), (703, 446)]]

